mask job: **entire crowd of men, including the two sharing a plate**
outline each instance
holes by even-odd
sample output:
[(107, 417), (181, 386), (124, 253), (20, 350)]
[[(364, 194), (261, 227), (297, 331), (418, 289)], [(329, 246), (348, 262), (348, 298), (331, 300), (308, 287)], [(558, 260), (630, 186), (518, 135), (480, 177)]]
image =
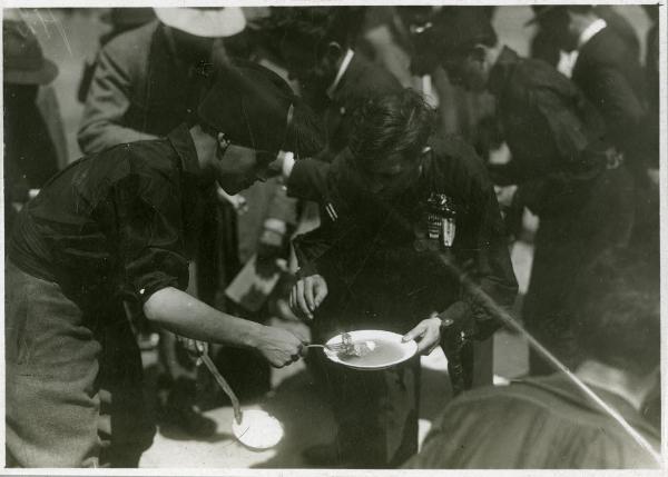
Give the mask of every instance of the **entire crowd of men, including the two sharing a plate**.
[[(85, 157), (60, 171), (37, 100), (58, 67), (6, 18), (8, 465), (138, 466), (155, 434), (139, 351), (151, 330), (158, 417), (210, 436), (198, 354), (253, 399), (307, 342), (382, 329), (416, 355), (377, 371), (307, 355), (337, 430), (306, 466), (656, 467), (647, 12), (641, 67), (632, 27), (591, 6), (534, 8), (533, 58), (499, 41), (490, 7), (111, 9), (78, 91)], [(510, 247), (527, 211), (539, 228), (518, 310)], [(291, 252), (294, 275), (276, 265)], [(258, 306), (225, 296), (246, 262), (283, 275)], [(573, 372), (532, 348), (529, 377), (492, 387), (508, 312)], [(420, 357), (439, 346), (455, 398), (418, 453)]]

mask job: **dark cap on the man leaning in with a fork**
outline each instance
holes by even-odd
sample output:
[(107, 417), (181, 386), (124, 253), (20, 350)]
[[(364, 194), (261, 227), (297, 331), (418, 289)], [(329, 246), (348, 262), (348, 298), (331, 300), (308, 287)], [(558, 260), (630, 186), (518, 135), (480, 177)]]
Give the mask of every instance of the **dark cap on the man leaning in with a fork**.
[(278, 74), (235, 60), (217, 72), (198, 116), (233, 143), (275, 156), (286, 141), (294, 103), (289, 86)]

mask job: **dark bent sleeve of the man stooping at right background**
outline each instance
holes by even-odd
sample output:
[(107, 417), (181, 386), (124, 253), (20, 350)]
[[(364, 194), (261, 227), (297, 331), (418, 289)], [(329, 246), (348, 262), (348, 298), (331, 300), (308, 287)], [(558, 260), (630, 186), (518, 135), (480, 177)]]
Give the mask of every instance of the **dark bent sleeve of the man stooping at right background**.
[[(531, 106), (537, 112), (537, 128), (547, 128), (544, 136), (552, 142), (544, 149), (553, 149), (557, 156), (550, 170), (540, 177), (519, 183), (518, 200), (533, 213), (542, 213), (572, 207), (576, 196), (596, 177), (599, 165), (592, 162), (593, 150), (589, 126), (578, 116), (576, 107), (549, 88), (537, 89), (531, 95)], [(529, 158), (530, 161), (530, 158)]]

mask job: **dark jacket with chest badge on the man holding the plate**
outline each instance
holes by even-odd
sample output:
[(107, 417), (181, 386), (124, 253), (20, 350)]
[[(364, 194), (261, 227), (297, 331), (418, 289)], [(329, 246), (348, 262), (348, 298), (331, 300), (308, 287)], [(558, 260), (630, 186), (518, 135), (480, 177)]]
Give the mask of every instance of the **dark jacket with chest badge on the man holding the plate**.
[[(418, 183), (391, 202), (364, 190), (348, 149), (328, 168), (318, 161), (295, 165), (288, 191), (321, 202), (327, 197), (338, 213), (330, 227), (295, 240), (301, 265), (315, 265), (327, 280), (331, 298), (322, 314), (331, 309), (338, 325), (405, 332), (466, 300), (456, 274), (464, 268), (500, 306), (512, 305), (517, 282), (484, 166), (459, 139), (433, 138), (431, 148)], [(448, 196), (456, 208), (446, 262), (424, 240), (432, 193)], [(497, 328), (474, 305), (471, 316), (471, 335), (489, 336)]]

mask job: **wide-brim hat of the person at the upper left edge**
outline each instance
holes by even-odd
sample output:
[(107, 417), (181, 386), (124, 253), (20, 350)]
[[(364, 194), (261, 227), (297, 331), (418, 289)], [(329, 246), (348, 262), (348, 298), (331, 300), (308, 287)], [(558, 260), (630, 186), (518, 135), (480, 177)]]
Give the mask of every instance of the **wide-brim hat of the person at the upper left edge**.
[(2, 22), (2, 80), (16, 85), (48, 85), (58, 67), (45, 58), (37, 37), (23, 21)]

